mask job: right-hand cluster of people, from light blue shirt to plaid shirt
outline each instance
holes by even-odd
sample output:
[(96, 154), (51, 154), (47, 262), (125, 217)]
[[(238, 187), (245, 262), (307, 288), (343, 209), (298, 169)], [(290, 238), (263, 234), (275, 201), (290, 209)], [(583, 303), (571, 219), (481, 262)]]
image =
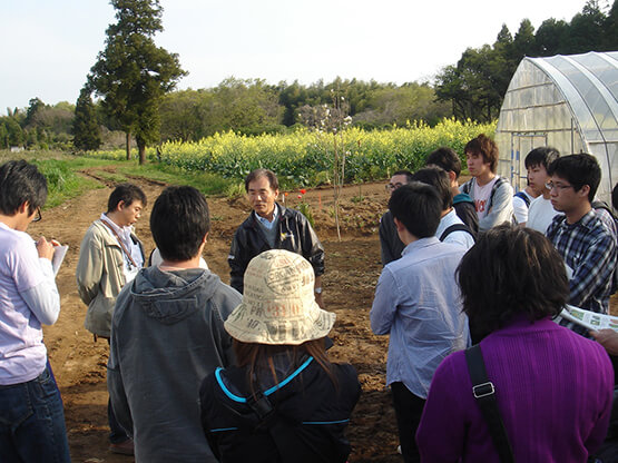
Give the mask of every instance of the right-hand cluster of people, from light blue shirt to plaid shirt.
[[(616, 290), (615, 218), (595, 201), (599, 165), (533, 149), (527, 188), (513, 195), (496, 174), (493, 140), (480, 135), (464, 154), (472, 178), (461, 187), (449, 148), (388, 186), (371, 325), (390, 335), (401, 453), (406, 462), (510, 461), (499, 460), (494, 423), (472, 394), (464, 352), (480, 343), (514, 461), (586, 461), (606, 435), (614, 373), (601, 346), (550, 318), (567, 303), (607, 314)], [(616, 333), (579, 333), (617, 353)]]

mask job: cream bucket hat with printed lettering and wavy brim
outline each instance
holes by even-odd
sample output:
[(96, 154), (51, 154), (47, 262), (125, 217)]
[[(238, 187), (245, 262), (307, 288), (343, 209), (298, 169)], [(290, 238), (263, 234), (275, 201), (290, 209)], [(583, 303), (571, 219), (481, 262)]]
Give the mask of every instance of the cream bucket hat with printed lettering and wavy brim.
[(291, 344), (328, 334), (335, 314), (315, 302), (315, 276), (301, 255), (284, 249), (254, 257), (245, 272), (243, 303), (225, 321), (225, 329), (243, 343)]

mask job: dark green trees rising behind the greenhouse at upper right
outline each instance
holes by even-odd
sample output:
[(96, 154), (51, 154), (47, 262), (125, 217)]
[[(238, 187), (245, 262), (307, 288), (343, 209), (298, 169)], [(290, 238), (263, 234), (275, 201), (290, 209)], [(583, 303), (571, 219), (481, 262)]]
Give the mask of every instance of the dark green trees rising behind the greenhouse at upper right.
[(570, 22), (545, 20), (534, 33), (532, 23), (521, 21), (514, 38), (502, 24), (492, 47), (467, 49), (457, 66), (436, 76), (435, 95), (450, 101), (460, 118), (487, 121), (499, 114), (512, 75), (526, 56), (585, 53), (618, 48), (618, 0), (606, 16), (598, 0), (588, 0)]

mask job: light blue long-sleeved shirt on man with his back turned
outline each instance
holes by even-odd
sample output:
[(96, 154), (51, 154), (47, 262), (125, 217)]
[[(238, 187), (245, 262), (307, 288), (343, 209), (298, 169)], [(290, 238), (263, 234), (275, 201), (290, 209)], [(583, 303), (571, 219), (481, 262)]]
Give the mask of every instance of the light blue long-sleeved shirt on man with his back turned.
[(462, 246), (432, 236), (409, 244), (402, 257), (382, 270), (370, 319), (373, 333), (391, 335), (388, 385), (402, 382), (426, 398), (440, 362), (470, 345), (455, 282), (464, 253)]

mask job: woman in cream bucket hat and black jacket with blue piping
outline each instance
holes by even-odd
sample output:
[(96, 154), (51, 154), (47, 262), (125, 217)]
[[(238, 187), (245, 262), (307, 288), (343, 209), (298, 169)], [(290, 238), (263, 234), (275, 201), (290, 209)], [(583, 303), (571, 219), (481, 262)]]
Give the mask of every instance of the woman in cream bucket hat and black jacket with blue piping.
[(313, 294), (302, 256), (273, 249), (253, 258), (243, 304), (225, 322), (237, 366), (202, 384), (202, 423), (220, 462), (345, 462), (344, 428), (361, 386), (325, 351), (335, 314)]

